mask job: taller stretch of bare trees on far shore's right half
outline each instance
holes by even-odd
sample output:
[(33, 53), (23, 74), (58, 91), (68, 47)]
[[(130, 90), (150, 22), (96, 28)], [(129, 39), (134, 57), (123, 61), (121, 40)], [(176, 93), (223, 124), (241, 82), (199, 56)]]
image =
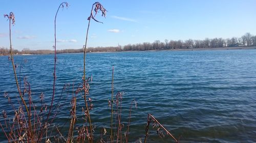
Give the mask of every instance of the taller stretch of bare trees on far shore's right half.
[(162, 49), (189, 49), (189, 48), (217, 48), (217, 47), (238, 47), (238, 46), (256, 46), (256, 36), (246, 33), (240, 38), (232, 37), (231, 39), (205, 38), (204, 40), (156, 40), (153, 43), (144, 42), (140, 44), (129, 44), (123, 46), (123, 50), (162, 50)]

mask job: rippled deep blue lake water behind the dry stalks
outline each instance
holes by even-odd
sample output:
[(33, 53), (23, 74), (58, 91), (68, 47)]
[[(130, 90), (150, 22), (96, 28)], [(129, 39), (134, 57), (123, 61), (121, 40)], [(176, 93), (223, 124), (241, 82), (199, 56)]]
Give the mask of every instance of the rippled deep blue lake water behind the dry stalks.
[[(15, 56), (18, 66), (25, 59), (28, 61), (23, 64), (21, 76), (27, 76), (33, 98), (44, 92), (48, 103), (52, 95), (53, 58), (53, 54)], [(65, 105), (55, 119), (64, 124), (70, 121), (72, 84), (76, 88), (82, 82), (83, 54), (57, 54), (57, 58), (55, 99), (63, 85), (70, 83), (68, 93), (61, 97)], [(15, 98), (17, 90), (8, 56), (0, 56), (0, 63), (2, 111), (8, 110), (4, 92)], [(99, 131), (101, 127), (110, 127), (112, 66), (114, 93), (123, 92), (124, 125), (131, 102), (137, 102), (137, 109), (132, 107), (131, 142), (144, 138), (147, 113), (177, 138), (181, 136), (181, 142), (256, 142), (256, 50), (88, 53), (87, 76), (93, 76), (89, 95), (94, 104), (91, 118)], [(84, 102), (81, 98), (77, 102), (77, 109), (81, 110)], [(3, 140), (2, 130), (0, 136)], [(170, 140), (159, 138), (156, 130), (150, 128), (148, 142)]]

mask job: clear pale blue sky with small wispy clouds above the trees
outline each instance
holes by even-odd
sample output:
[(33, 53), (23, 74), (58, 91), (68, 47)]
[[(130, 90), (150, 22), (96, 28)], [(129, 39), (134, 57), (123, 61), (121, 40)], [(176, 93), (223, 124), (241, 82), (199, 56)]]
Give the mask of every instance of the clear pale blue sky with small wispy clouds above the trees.
[[(57, 49), (82, 48), (92, 4), (96, 1), (7, 1), (0, 5), (0, 47), (8, 48), (9, 22), (13, 12), (14, 49), (53, 49), (54, 17), (62, 2), (70, 7), (58, 12)], [(255, 0), (99, 0), (108, 11), (91, 21), (88, 47), (118, 46), (155, 40), (203, 40), (205, 38), (256, 35)]]

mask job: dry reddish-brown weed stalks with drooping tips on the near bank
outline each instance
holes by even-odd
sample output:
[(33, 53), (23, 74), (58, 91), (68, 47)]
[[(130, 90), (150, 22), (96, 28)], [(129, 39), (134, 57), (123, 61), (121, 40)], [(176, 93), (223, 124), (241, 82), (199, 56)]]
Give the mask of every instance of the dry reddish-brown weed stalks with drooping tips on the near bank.
[[(89, 96), (89, 84), (92, 81), (92, 77), (86, 76), (86, 49), (88, 32), (91, 20), (100, 22), (95, 19), (97, 12), (102, 12), (102, 16), (105, 16), (106, 13), (106, 10), (98, 2), (92, 5), (91, 13), (88, 17), (88, 29), (86, 32), (85, 45), (83, 46), (82, 80), (76, 88), (74, 84), (71, 86), (72, 94), (70, 101), (60, 101), (63, 93), (65, 93), (65, 91), (70, 87), (69, 84), (65, 84), (63, 86), (59, 99), (55, 99), (57, 93), (55, 87), (55, 82), (57, 80), (56, 18), (59, 9), (64, 7), (68, 8), (69, 4), (67, 2), (61, 3), (55, 14), (53, 88), (52, 96), (48, 101), (45, 100), (44, 92), (42, 92), (38, 97), (32, 96), (31, 85), (27, 77), (20, 77), (22, 64), (20, 64), (18, 69), (17, 64), (14, 63), (13, 52), (15, 51), (13, 51), (12, 48), (11, 38), (11, 25), (15, 23), (15, 16), (12, 12), (4, 15), (9, 20), (10, 56), (8, 60), (12, 63), (16, 83), (15, 90), (18, 92), (18, 97), (15, 97), (12, 94), (9, 95), (8, 92), (4, 93), (5, 98), (9, 102), (10, 108), (6, 107), (7, 109), (2, 111), (2, 118), (0, 119), (0, 127), (2, 128), (2, 132), (0, 132), (0, 137), (2, 138), (5, 136), (6, 141), (8, 140), (8, 142), (129, 142), (131, 110), (134, 104), (136, 106), (136, 101), (131, 101), (130, 112), (128, 113), (129, 121), (127, 124), (122, 123), (122, 93), (118, 92), (114, 95), (114, 67), (112, 72), (112, 95), (111, 100), (109, 100), (109, 106), (111, 109), (109, 112), (111, 114), (111, 125), (109, 125), (109, 128), (102, 127), (101, 132), (96, 132), (98, 130), (96, 130), (96, 127), (93, 125), (90, 117), (90, 111), (93, 110), (93, 100)], [(10, 92), (12, 93), (13, 91)], [(79, 101), (79, 103), (84, 102), (84, 105), (80, 109), (77, 107), (77, 101)], [(62, 107), (64, 105), (70, 107), (70, 110), (68, 110), (68, 112), (70, 111), (70, 116), (67, 123), (69, 128), (66, 132), (61, 130), (61, 128), (65, 125), (54, 124), (54, 120), (59, 118), (58, 113), (62, 111)], [(160, 137), (164, 137), (164, 134), (166, 134), (167, 136), (173, 138), (175, 142), (179, 142), (179, 140), (170, 134), (170, 132), (165, 129), (154, 116), (148, 114), (147, 118), (145, 117), (145, 119), (147, 119), (147, 122), (145, 121), (146, 126), (143, 142), (146, 142), (149, 135), (148, 130), (150, 129), (151, 124), (153, 124), (153, 128), (155, 128)], [(80, 124), (78, 124), (78, 122)], [(138, 142), (142, 142), (142, 139), (139, 138)]]

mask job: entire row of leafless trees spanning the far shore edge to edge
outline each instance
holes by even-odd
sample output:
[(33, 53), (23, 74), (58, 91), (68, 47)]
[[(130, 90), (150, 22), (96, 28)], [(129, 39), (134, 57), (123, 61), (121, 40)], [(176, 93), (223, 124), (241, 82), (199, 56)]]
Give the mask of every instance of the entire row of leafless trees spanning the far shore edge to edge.
[[(216, 47), (238, 47), (238, 46), (256, 46), (256, 36), (246, 33), (242, 37), (232, 38), (205, 38), (204, 40), (167, 40), (164, 42), (156, 40), (153, 43), (144, 42), (138, 44), (128, 44), (124, 46), (110, 47), (89, 47), (87, 52), (111, 52), (111, 51), (134, 51), (134, 50), (164, 50), (164, 49), (190, 49), (190, 48), (216, 48)], [(57, 50), (57, 53), (78, 53), (83, 52), (83, 49), (62, 49)], [(22, 51), (13, 50), (15, 54), (50, 54), (53, 50), (30, 50), (24, 48)], [(8, 48), (0, 48), (0, 55), (9, 54)]]

